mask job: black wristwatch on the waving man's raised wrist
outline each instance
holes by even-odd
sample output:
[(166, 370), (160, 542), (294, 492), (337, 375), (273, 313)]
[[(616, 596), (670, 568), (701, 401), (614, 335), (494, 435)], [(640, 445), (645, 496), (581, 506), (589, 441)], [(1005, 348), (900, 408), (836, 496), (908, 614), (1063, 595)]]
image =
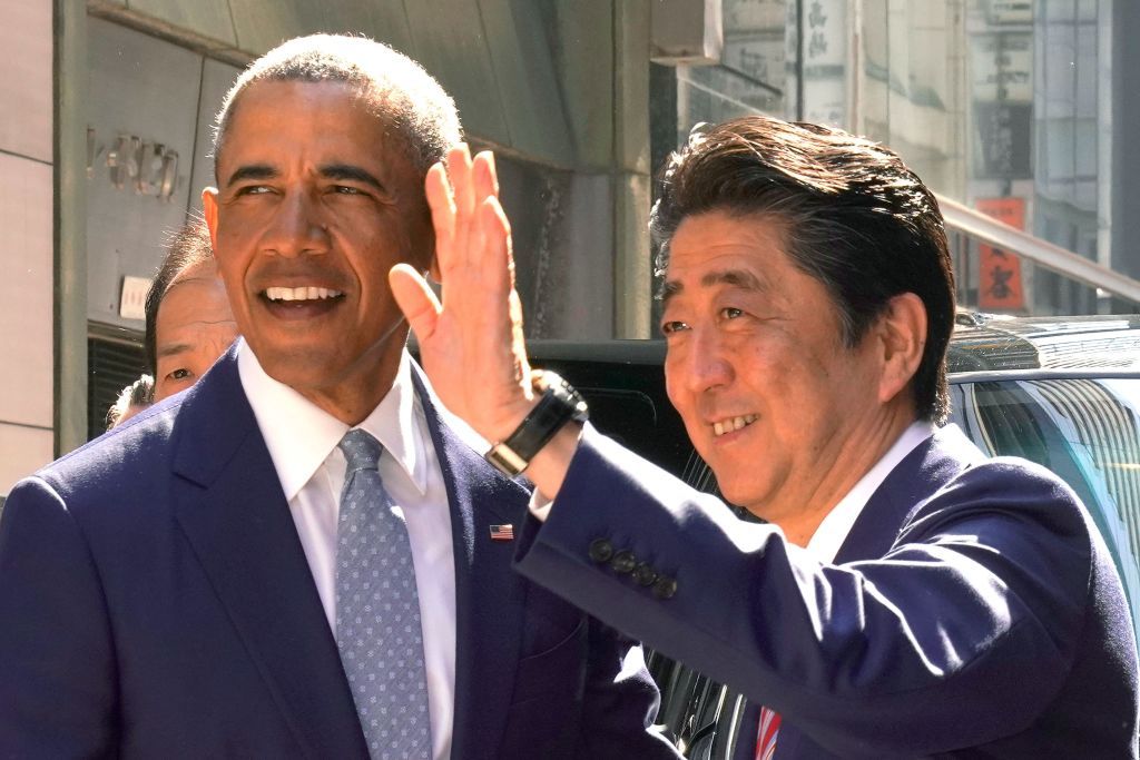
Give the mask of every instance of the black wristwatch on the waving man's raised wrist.
[(536, 369), (530, 382), (542, 394), (538, 406), (531, 409), (505, 441), (496, 443), (483, 455), (504, 475), (514, 477), (530, 464), (554, 434), (571, 419), (586, 422), (589, 412), (586, 400), (570, 383), (555, 373)]

